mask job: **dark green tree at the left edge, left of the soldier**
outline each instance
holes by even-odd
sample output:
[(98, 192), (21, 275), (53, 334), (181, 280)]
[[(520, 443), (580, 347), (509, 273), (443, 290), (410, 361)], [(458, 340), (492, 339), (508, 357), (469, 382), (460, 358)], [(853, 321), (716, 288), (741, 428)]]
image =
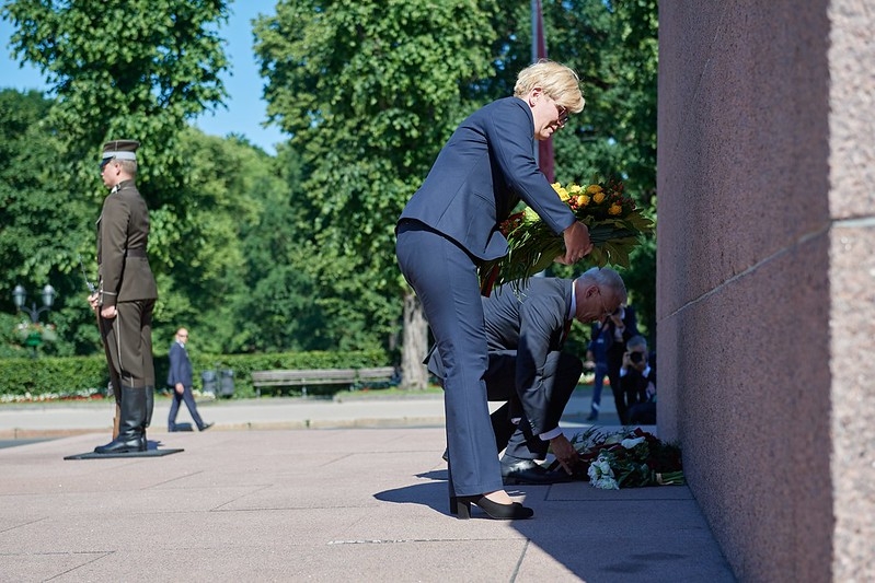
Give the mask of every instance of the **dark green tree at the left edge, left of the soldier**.
[[(93, 351), (100, 341), (79, 264), (72, 263), (78, 249), (93, 249), (94, 215), (56, 180), (62, 144), (46, 119), (50, 107), (38, 92), (0, 91), (0, 306), (15, 312), (11, 294), (18, 284), (27, 291), (27, 305), (36, 300), (39, 306), (39, 290), (50, 284), (57, 299), (42, 319), (58, 327), (58, 340), (41, 351), (72, 354)], [(22, 319), (30, 322), (25, 314), (15, 316)], [(5, 339), (16, 341), (14, 335)]]

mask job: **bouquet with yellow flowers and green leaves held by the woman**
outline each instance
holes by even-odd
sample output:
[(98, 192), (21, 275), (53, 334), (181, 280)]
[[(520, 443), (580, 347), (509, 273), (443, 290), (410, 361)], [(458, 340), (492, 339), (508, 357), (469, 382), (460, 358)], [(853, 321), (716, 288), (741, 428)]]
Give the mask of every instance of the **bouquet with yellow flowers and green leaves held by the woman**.
[[(638, 244), (642, 234), (653, 231), (654, 223), (623, 194), (623, 183), (595, 178), (589, 185), (555, 183), (553, 189), (589, 229), (595, 248), (587, 259), (599, 267), (607, 264), (629, 267), (629, 253)], [(499, 229), (507, 237), (510, 252), (481, 266), (484, 295), (488, 295), (493, 285), (518, 285), (565, 255), (562, 234), (554, 234), (528, 207), (510, 215)]]

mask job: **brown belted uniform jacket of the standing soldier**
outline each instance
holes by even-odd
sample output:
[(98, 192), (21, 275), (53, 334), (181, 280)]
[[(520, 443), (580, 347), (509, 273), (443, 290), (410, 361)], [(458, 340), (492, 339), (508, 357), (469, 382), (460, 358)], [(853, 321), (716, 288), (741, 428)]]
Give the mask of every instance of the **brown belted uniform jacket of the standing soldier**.
[(158, 298), (148, 243), (149, 209), (134, 180), (124, 180), (103, 201), (97, 219), (101, 305)]

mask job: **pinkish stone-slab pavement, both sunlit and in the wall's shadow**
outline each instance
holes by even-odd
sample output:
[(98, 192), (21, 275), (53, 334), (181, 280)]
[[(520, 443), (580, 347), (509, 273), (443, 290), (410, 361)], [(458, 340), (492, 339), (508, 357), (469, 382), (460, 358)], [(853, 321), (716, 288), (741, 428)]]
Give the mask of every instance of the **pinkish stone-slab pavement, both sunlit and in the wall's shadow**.
[(533, 520), (450, 516), (440, 398), (198, 408), (215, 428), (168, 433), (156, 407), (150, 441), (182, 453), (65, 460), (108, 441), (108, 404), (0, 407), (0, 581), (734, 581), (686, 486), (510, 487)]

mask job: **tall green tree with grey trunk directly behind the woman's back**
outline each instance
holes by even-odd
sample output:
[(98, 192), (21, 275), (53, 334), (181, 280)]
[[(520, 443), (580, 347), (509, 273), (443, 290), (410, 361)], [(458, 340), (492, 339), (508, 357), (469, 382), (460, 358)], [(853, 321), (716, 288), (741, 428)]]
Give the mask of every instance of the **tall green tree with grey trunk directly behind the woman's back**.
[[(394, 260), (393, 226), (440, 144), (481, 101), (492, 74), (494, 1), (285, 0), (255, 23), (270, 118), (304, 165), (299, 267), (322, 291), (343, 339), (416, 322)], [(316, 253), (318, 250), (318, 253)], [(426, 327), (404, 326), (405, 382), (425, 386)]]

